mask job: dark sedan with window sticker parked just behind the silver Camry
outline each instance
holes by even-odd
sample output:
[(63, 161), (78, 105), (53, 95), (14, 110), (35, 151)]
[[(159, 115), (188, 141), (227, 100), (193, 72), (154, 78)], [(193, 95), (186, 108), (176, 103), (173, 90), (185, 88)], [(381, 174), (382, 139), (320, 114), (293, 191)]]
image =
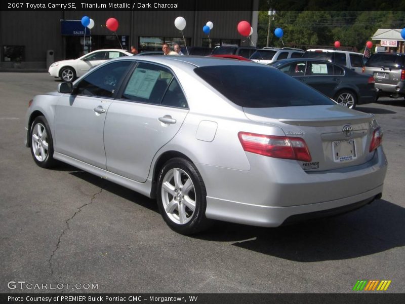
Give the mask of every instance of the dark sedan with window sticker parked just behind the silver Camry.
[(377, 98), (373, 77), (356, 73), (339, 64), (312, 58), (296, 58), (275, 61), (269, 65), (348, 108), (374, 102)]

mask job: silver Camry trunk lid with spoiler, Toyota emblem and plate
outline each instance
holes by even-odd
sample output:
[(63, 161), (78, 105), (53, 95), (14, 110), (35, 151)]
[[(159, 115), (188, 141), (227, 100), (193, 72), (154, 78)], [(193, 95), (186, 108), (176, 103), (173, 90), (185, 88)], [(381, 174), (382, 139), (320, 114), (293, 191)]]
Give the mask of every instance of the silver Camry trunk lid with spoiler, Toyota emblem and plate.
[[(244, 108), (248, 119), (281, 127), (286, 136), (303, 138), (311, 161), (303, 170), (324, 171), (369, 161), (373, 115), (340, 105)], [(271, 135), (271, 134), (270, 134)]]

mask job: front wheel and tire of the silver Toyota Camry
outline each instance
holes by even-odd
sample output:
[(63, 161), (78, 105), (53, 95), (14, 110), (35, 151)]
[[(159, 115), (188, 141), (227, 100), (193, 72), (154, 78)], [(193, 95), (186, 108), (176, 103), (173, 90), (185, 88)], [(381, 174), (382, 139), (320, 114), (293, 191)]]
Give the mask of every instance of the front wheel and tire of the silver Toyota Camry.
[[(44, 133), (44, 131), (46, 133)], [(42, 168), (55, 165), (54, 145), (47, 120), (43, 116), (35, 118), (29, 132), (31, 155), (34, 162)]]

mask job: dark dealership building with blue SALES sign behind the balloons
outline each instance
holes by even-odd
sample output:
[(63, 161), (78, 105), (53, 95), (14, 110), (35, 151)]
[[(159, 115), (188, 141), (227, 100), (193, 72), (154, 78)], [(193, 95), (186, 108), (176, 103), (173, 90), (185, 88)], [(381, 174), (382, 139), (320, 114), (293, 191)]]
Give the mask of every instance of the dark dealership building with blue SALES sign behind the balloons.
[[(97, 49), (132, 45), (139, 51), (184, 41), (187, 47), (256, 45), (259, 0), (246, 0), (245, 7), (246, 2), (250, 11), (0, 11), (0, 68), (45, 69)], [(84, 16), (94, 20), (91, 30), (82, 25)], [(186, 20), (182, 32), (174, 25), (179, 16)], [(116, 32), (107, 28), (109, 18), (118, 21)], [(241, 20), (253, 27), (251, 41), (237, 31)], [(214, 24), (209, 36), (203, 32), (208, 21)]]

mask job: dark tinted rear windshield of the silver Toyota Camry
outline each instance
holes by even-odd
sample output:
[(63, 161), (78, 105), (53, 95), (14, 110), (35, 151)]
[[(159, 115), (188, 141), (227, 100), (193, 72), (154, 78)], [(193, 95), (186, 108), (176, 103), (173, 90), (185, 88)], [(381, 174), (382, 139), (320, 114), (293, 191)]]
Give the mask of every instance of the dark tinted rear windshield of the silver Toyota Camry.
[(318, 91), (268, 66), (218, 65), (197, 67), (194, 71), (218, 92), (242, 107), (335, 104)]

